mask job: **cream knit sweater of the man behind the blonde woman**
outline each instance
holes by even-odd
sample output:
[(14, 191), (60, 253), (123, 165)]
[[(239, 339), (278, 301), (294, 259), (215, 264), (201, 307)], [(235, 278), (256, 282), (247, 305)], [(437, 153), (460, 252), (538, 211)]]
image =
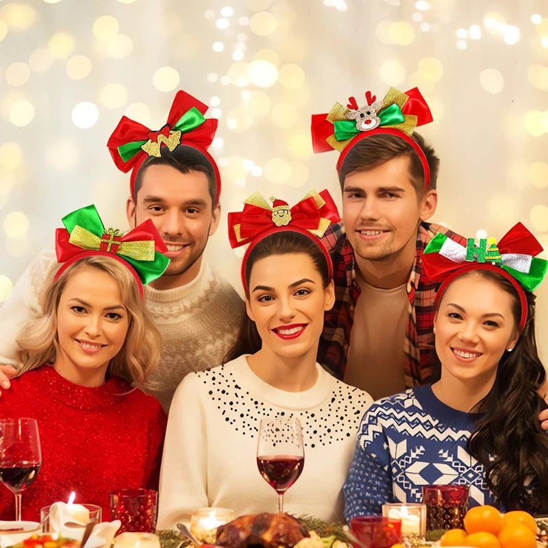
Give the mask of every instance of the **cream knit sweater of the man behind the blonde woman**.
[[(40, 314), (39, 292), (56, 268), (55, 249), (40, 251), (0, 308), (0, 363), (17, 363), (16, 338), (28, 319)], [(168, 290), (145, 286), (145, 305), (162, 335), (162, 357), (147, 392), (167, 412), (184, 375), (207, 369), (212, 362), (221, 363), (238, 338), (245, 307), (234, 288), (206, 260), (197, 277), (185, 286)]]

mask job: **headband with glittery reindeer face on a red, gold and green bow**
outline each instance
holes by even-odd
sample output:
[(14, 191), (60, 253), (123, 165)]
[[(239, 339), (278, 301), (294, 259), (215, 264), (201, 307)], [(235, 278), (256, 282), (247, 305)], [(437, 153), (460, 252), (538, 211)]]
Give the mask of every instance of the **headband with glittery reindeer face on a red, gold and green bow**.
[(337, 150), (340, 156), (337, 171), (353, 145), (372, 135), (394, 135), (408, 142), (421, 159), (424, 169), (424, 188), (430, 184), (430, 169), (426, 155), (411, 138), (418, 125), (432, 122), (432, 113), (418, 88), (402, 93), (390, 88), (382, 101), (365, 93), (366, 105), (361, 108), (354, 97), (348, 108), (335, 103), (327, 114), (312, 114), (312, 147), (314, 152)]

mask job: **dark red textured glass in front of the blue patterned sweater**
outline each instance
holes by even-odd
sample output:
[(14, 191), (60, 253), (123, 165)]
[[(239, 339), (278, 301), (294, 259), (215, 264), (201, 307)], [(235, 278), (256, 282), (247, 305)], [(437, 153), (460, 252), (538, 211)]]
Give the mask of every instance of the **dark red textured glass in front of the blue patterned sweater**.
[(426, 530), (464, 529), (464, 515), (469, 507), (468, 485), (425, 485)]

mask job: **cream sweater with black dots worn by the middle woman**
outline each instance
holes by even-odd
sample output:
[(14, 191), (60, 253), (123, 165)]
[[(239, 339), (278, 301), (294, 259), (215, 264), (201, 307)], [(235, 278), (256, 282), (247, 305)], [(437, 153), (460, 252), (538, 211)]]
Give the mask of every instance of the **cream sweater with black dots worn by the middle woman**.
[(318, 379), (304, 392), (262, 381), (246, 356), (185, 377), (169, 414), (158, 528), (189, 521), (192, 510), (204, 506), (232, 508), (236, 515), (277, 511), (256, 451), (260, 419), (278, 414), (297, 416), (305, 438), (303, 472), (286, 492), (284, 510), (343, 519), (343, 483), (358, 425), (373, 400), (316, 368)]

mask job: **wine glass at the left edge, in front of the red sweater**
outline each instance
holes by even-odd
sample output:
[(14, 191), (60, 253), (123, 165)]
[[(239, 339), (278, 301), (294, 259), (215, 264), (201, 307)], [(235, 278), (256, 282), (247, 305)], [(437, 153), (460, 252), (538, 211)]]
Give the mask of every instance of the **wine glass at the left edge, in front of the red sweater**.
[(0, 419), (0, 482), (15, 495), (15, 519), (21, 521), (21, 493), (42, 464), (36, 419)]

